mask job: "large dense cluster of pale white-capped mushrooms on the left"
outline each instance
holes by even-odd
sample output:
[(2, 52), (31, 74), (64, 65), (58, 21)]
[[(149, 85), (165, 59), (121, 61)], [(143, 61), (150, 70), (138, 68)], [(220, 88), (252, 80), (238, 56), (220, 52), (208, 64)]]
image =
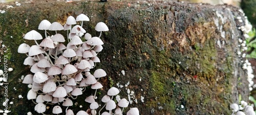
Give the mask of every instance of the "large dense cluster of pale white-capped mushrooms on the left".
[[(99, 104), (95, 102), (96, 92), (97, 89), (103, 87), (98, 81), (101, 77), (106, 76), (106, 72), (98, 68), (92, 73), (91, 69), (100, 62), (97, 57), (103, 49), (103, 41), (100, 36), (102, 36), (102, 31), (109, 31), (109, 28), (103, 22), (99, 22), (95, 30), (100, 32), (100, 35), (92, 37), (82, 28), (83, 21), (89, 20), (88, 16), (84, 14), (78, 15), (76, 19), (69, 16), (64, 26), (58, 22), (51, 23), (48, 20), (42, 20), (38, 30), (44, 30), (44, 39), (35, 30), (25, 34), (24, 39), (34, 40), (35, 45), (29, 46), (22, 43), (18, 47), (18, 53), (28, 56), (24, 60), (24, 64), (30, 66), (31, 74), (25, 76), (23, 83), (29, 84), (31, 87), (27, 99), (36, 104), (34, 109), (38, 113), (44, 114), (47, 109), (46, 104), (55, 104), (52, 113), (62, 113), (62, 108), (67, 107), (66, 114), (74, 114), (68, 107), (73, 105), (72, 100), (82, 95), (90, 86), (95, 89), (95, 93), (85, 101), (91, 103), (91, 110), (87, 112), (81, 110), (77, 114), (96, 114), (96, 109), (99, 107)], [(77, 25), (79, 22), (81, 25)], [(67, 31), (66, 37), (58, 33), (62, 30)], [(48, 35), (47, 31), (54, 31), (55, 34)], [(37, 40), (41, 40), (41, 42), (38, 43)], [(104, 100), (102, 102), (106, 103), (106, 110), (110, 110), (108, 112), (110, 114), (112, 114), (111, 110), (116, 108), (116, 104), (112, 100), (113, 96), (118, 93), (119, 89), (112, 87), (108, 92), (108, 96), (112, 96), (112, 98), (102, 98)], [(120, 105), (118, 103), (119, 107), (127, 107), (128, 102), (125, 100), (121, 100)], [(139, 112), (137, 111), (137, 113)]]

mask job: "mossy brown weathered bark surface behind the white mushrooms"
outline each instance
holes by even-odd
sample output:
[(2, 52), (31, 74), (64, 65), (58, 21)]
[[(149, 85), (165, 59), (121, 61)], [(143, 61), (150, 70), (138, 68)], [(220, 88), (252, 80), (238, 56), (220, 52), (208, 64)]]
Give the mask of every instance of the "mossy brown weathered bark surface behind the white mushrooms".
[[(100, 80), (104, 87), (98, 102), (111, 86), (130, 83), (119, 87), (119, 95), (127, 99), (126, 90), (134, 91), (129, 107), (138, 107), (140, 114), (231, 114), (229, 105), (238, 103), (239, 98), (247, 101), (249, 96), (241, 63), (245, 59), (237, 55), (241, 51), (238, 39), (243, 38), (238, 27), (244, 25), (236, 19), (243, 17), (238, 10), (232, 6), (179, 2), (90, 1), (35, 2), (9, 9), (0, 15), (0, 39), (8, 49), (4, 55), (8, 56), (8, 66), (14, 68), (8, 74), (8, 98), (14, 102), (9, 110), (11, 114), (37, 114), (35, 105), (26, 99), (29, 88), (19, 80), (30, 71), (23, 65), (26, 56), (18, 54), (17, 48), (23, 42), (34, 44), (24, 40), (24, 34), (37, 30), (43, 19), (65, 24), (68, 16), (84, 13), (90, 17), (84, 28), (93, 36), (99, 35), (94, 30), (99, 21), (110, 29), (103, 33), (104, 49), (96, 67), (108, 74)], [(88, 89), (73, 101), (78, 102), (77, 106), (70, 108), (75, 113), (86, 110), (89, 104), (84, 99), (93, 93)], [(24, 98), (18, 99), (18, 95)], [(47, 114), (52, 113), (52, 105), (49, 106)]]

